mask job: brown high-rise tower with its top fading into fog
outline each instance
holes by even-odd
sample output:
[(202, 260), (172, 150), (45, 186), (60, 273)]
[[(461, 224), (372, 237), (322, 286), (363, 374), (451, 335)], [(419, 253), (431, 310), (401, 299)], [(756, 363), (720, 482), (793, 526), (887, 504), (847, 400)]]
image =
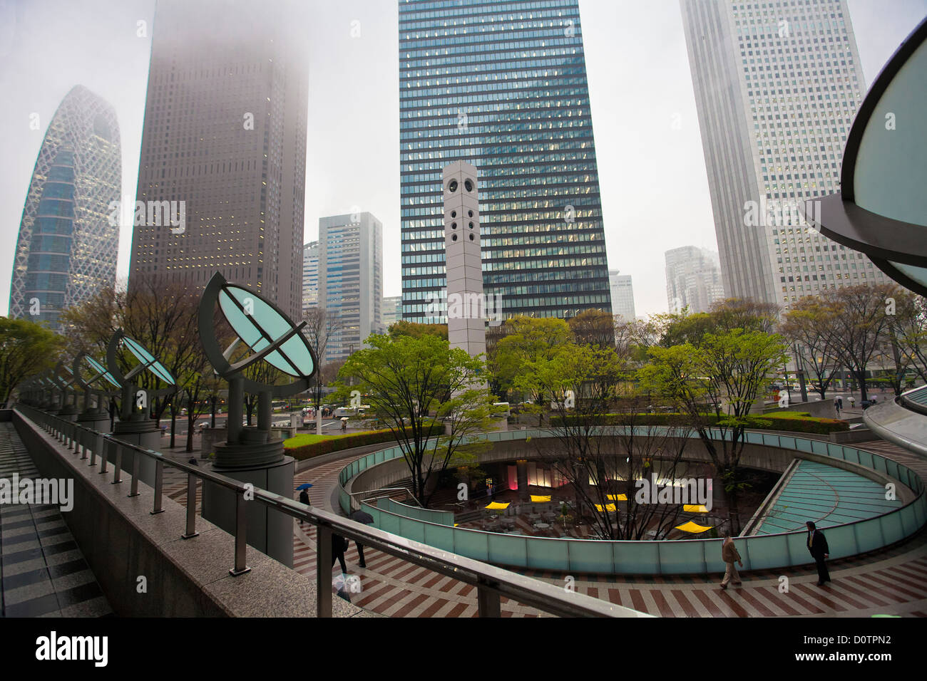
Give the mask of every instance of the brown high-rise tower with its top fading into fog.
[(136, 202), (173, 220), (134, 225), (130, 288), (196, 290), (221, 271), (301, 315), (302, 13), (292, 0), (159, 0)]

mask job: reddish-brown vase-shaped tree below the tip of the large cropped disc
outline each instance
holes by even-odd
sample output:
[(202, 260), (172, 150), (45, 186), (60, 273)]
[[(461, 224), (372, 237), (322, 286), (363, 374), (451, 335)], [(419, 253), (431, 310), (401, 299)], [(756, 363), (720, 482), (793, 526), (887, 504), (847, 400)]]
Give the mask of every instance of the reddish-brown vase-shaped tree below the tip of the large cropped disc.
[(839, 310), (832, 325), (826, 328), (828, 341), (841, 364), (856, 378), (863, 400), (870, 361), (885, 342), (888, 299), (896, 293), (894, 284), (860, 284), (833, 289), (823, 296)]

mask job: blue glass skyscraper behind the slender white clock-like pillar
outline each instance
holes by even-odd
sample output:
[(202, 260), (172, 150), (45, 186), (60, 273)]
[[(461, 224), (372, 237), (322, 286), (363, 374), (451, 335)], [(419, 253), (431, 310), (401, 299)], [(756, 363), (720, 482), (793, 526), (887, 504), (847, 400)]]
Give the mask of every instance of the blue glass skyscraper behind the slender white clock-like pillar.
[(484, 293), (506, 317), (610, 311), (578, 0), (399, 12), (403, 319), (447, 322), (441, 170), (457, 160), (478, 170)]

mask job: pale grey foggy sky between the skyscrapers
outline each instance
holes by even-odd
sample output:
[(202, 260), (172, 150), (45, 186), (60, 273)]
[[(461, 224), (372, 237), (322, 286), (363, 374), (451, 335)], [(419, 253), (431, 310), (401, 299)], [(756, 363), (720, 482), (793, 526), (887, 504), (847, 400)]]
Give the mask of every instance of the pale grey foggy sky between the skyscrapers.
[[(311, 52), (303, 241), (316, 238), (320, 217), (369, 210), (384, 224), (384, 296), (398, 296), (397, 3), (306, 2), (313, 20), (303, 32)], [(868, 86), (927, 15), (927, 0), (849, 7)], [(609, 268), (633, 277), (637, 314), (665, 311), (664, 252), (717, 250), (679, 2), (579, 0), (579, 9)], [(0, 0), (0, 313), (35, 158), (75, 84), (116, 108), (121, 195), (135, 194), (153, 15), (154, 0)], [(30, 129), (33, 113), (38, 131)], [(123, 226), (121, 278), (131, 241), (131, 226)]]

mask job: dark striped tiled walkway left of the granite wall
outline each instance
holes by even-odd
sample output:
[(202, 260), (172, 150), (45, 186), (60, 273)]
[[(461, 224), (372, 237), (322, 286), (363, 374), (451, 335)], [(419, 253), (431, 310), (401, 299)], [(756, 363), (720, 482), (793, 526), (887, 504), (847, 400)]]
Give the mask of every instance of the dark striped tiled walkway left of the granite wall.
[[(0, 478), (36, 478), (12, 422), (0, 422)], [(0, 504), (0, 615), (112, 615), (57, 506)]]

